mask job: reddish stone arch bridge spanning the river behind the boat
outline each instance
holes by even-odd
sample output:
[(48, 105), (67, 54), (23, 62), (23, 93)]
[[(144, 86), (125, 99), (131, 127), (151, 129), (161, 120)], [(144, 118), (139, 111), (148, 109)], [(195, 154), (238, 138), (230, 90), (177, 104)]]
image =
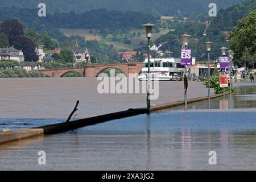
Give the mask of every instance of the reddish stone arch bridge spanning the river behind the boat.
[(90, 64), (81, 68), (42, 69), (39, 72), (49, 77), (61, 77), (68, 72), (79, 72), (84, 77), (98, 77), (105, 69), (116, 68), (125, 73), (126, 76), (141, 73), (143, 63), (119, 63), (119, 64)]

